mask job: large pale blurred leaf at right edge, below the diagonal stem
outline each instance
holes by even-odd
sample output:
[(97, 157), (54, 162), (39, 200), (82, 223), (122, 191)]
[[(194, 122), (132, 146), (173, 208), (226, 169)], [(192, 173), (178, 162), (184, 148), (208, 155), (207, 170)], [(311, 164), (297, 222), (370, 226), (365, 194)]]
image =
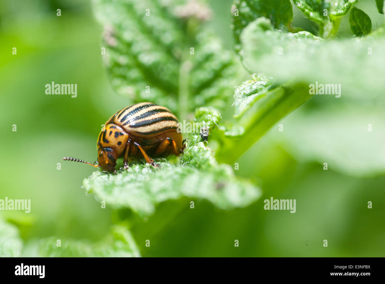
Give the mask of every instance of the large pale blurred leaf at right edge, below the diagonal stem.
[(381, 107), (363, 105), (299, 109), (282, 122), (283, 132), (271, 135), (304, 162), (327, 162), (330, 170), (358, 177), (377, 176), (385, 173), (382, 112)]

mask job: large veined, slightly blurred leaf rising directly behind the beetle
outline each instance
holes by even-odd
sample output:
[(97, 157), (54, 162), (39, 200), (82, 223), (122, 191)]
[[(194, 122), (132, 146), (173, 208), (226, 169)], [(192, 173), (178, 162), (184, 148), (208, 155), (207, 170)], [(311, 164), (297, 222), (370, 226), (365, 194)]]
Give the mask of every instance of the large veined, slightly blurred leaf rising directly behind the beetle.
[(94, 10), (104, 26), (102, 58), (119, 94), (164, 105), (182, 119), (201, 105), (226, 106), (239, 64), (213, 32), (201, 28), (208, 7), (181, 0), (95, 0)]

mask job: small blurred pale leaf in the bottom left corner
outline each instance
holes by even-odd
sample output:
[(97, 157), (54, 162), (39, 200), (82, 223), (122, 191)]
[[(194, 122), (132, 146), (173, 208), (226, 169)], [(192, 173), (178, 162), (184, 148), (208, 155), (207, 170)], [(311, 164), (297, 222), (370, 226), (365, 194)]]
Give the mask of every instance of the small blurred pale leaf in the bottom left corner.
[(0, 257), (19, 257), (22, 247), (17, 227), (0, 219)]

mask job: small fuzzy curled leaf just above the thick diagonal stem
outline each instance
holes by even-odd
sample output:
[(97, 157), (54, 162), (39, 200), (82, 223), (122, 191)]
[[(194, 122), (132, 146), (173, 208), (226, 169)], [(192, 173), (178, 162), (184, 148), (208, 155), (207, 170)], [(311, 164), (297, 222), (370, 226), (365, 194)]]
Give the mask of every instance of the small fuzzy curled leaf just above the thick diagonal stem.
[(269, 87), (273, 85), (273, 77), (257, 75), (253, 80), (243, 82), (236, 87), (234, 93), (234, 117), (240, 117), (249, 107), (263, 98), (269, 91)]

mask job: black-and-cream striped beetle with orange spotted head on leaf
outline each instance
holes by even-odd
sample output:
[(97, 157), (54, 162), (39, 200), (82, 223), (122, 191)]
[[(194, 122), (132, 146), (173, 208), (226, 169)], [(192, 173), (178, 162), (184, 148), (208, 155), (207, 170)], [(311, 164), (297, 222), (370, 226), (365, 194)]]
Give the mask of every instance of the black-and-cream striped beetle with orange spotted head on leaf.
[(177, 118), (166, 107), (142, 102), (119, 110), (104, 124), (97, 139), (97, 164), (64, 157), (63, 160), (82, 162), (104, 171), (115, 172), (116, 160), (123, 158), (128, 169), (129, 157), (144, 157), (154, 167), (160, 167), (152, 157), (183, 153), (186, 144), (177, 132)]

